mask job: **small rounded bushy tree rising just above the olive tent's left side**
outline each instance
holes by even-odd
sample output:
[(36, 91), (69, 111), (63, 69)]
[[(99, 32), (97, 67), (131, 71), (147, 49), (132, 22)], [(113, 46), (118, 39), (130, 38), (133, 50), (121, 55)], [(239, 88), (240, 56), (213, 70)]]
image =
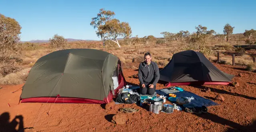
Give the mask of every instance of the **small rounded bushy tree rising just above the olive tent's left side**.
[(55, 50), (64, 50), (68, 47), (67, 40), (63, 36), (55, 34), (52, 38), (49, 38), (50, 48)]

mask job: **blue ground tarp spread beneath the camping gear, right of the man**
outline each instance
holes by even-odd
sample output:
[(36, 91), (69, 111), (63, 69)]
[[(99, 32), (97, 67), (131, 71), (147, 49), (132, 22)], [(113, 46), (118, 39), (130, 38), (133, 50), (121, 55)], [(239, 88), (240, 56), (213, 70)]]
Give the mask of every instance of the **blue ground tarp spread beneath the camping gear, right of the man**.
[[(165, 94), (164, 92), (161, 92), (160, 90), (155, 90), (157, 92), (157, 94), (159, 95), (164, 95), (166, 96), (166, 100), (168, 100), (169, 98), (169, 94)], [(209, 99), (206, 99), (206, 98), (203, 98), (201, 96), (198, 96), (196, 94), (193, 94), (191, 92), (187, 92), (185, 90), (181, 91), (181, 92), (175, 92), (173, 94), (176, 94), (176, 97), (191, 97), (193, 96), (195, 99), (194, 100), (191, 100), (191, 102), (189, 104), (193, 104), (194, 106), (198, 106), (198, 107), (201, 107), (201, 106), (214, 106), (214, 105), (219, 105), (217, 104), (216, 102), (213, 102), (212, 100), (209, 100)], [(175, 103), (175, 102), (173, 102)]]

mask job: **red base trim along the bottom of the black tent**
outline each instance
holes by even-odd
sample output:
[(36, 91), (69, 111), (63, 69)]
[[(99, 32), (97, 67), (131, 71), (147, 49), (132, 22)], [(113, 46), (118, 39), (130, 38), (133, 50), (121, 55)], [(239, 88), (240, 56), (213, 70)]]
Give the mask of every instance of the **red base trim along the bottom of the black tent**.
[(229, 85), (230, 82), (169, 82), (165, 87), (178, 85)]

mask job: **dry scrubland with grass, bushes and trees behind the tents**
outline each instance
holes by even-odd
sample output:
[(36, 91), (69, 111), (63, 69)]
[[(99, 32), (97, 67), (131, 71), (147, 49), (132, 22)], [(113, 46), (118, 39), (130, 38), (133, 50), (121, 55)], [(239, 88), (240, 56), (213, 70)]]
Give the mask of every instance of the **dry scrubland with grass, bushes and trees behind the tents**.
[(233, 34), (235, 27), (226, 24), (223, 34), (216, 34), (213, 29), (197, 25), (191, 33), (183, 30), (178, 33), (163, 31), (159, 33), (162, 38), (152, 35), (139, 38), (136, 35), (131, 37), (129, 23), (120, 22), (114, 15), (114, 12), (101, 9), (97, 17), (92, 18), (91, 26), (97, 29), (101, 41), (67, 42), (63, 36), (55, 34), (48, 43), (22, 43), (19, 23), (0, 14), (0, 84), (24, 83), (38, 58), (70, 48), (93, 48), (112, 53), (123, 62), (123, 68), (131, 69), (136, 69), (139, 62), (144, 60), (145, 52), (152, 54), (153, 61), (159, 67), (165, 66), (173, 54), (183, 50), (201, 52), (213, 63), (217, 63), (217, 52), (220, 52), (218, 63), (231, 65), (232, 54), (235, 54), (236, 65), (256, 72), (253, 63), (253, 57), (256, 57), (256, 31), (253, 29)]

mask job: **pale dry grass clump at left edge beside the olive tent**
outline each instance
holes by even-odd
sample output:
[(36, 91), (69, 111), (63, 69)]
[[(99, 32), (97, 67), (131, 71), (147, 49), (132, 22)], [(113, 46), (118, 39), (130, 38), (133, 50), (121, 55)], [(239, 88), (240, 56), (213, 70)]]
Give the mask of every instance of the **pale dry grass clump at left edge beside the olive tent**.
[(16, 73), (11, 73), (5, 77), (0, 78), (0, 84), (22, 84), (28, 77), (28, 71), (31, 68), (26, 68)]

